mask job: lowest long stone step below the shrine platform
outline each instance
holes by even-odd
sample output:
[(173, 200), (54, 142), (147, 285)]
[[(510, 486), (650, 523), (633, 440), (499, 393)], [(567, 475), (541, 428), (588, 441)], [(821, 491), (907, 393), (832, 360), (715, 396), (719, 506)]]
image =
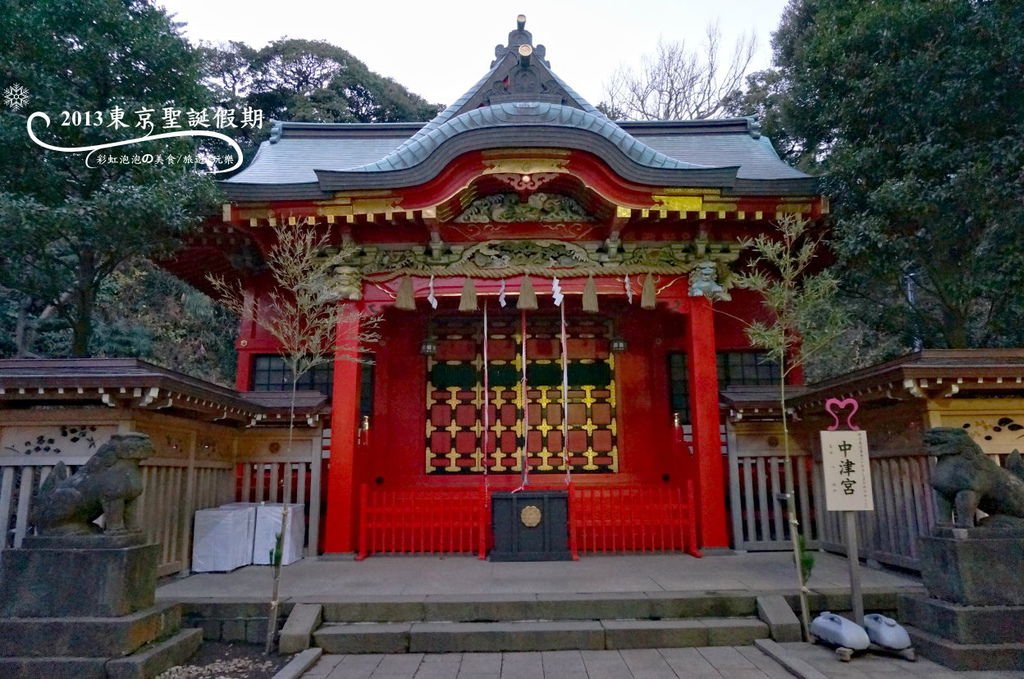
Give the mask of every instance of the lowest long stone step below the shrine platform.
[(504, 652), (734, 646), (768, 638), (755, 618), (334, 623), (313, 642), (329, 653)]

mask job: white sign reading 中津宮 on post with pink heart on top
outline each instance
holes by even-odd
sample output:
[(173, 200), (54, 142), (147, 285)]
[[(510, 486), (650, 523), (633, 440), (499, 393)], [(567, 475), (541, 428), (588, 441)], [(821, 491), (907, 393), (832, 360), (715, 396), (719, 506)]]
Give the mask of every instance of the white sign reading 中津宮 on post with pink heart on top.
[[(836, 409), (851, 408), (846, 417), (847, 430), (840, 430)], [(860, 558), (857, 554), (857, 521), (854, 512), (874, 511), (871, 496), (871, 467), (867, 456), (867, 432), (853, 424), (857, 412), (854, 398), (829, 398), (825, 411), (836, 423), (821, 433), (821, 469), (825, 484), (825, 508), (844, 514), (846, 557), (850, 563), (850, 598), (854, 622), (864, 625), (864, 598), (860, 591)]]

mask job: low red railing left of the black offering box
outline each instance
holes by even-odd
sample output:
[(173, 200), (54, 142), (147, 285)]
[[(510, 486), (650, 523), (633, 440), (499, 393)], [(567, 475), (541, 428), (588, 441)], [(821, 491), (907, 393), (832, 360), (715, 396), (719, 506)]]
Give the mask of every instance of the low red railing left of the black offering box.
[(359, 551), (371, 554), (473, 553), (484, 558), (490, 505), (479, 490), (359, 489)]

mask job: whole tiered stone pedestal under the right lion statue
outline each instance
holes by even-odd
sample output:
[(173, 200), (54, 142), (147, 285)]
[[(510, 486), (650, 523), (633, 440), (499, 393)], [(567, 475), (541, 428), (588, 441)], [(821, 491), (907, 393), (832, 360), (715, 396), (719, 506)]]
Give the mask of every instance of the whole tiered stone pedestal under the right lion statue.
[(953, 670), (1024, 668), (1024, 531), (939, 527), (920, 545), (929, 596), (899, 598), (918, 650)]

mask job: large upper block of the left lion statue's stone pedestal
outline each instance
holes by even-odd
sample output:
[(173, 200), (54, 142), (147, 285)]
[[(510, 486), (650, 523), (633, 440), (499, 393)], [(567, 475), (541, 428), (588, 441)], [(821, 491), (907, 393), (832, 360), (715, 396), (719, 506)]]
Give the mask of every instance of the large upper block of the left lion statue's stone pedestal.
[(8, 549), (0, 618), (116, 618), (154, 604), (159, 545)]

